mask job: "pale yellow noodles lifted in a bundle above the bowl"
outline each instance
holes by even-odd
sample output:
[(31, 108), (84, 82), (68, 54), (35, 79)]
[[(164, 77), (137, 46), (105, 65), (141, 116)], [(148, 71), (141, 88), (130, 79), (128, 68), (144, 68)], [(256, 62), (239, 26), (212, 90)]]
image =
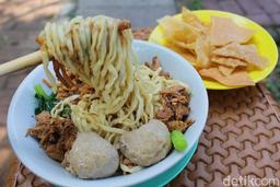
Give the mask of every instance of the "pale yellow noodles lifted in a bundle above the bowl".
[(56, 81), (47, 69), (49, 59), (63, 84), (72, 86), (69, 71), (95, 90), (82, 95), (78, 103), (73, 102), (78, 97), (74, 95), (60, 101), (51, 115), (69, 105), (79, 131), (93, 130), (112, 143), (117, 143), (126, 130), (154, 118), (162, 106), (162, 89), (183, 84), (159, 75), (161, 68), (153, 71), (139, 65), (129, 27), (127, 22), (102, 15), (75, 17), (62, 24), (47, 23), (37, 38), (54, 90)]

